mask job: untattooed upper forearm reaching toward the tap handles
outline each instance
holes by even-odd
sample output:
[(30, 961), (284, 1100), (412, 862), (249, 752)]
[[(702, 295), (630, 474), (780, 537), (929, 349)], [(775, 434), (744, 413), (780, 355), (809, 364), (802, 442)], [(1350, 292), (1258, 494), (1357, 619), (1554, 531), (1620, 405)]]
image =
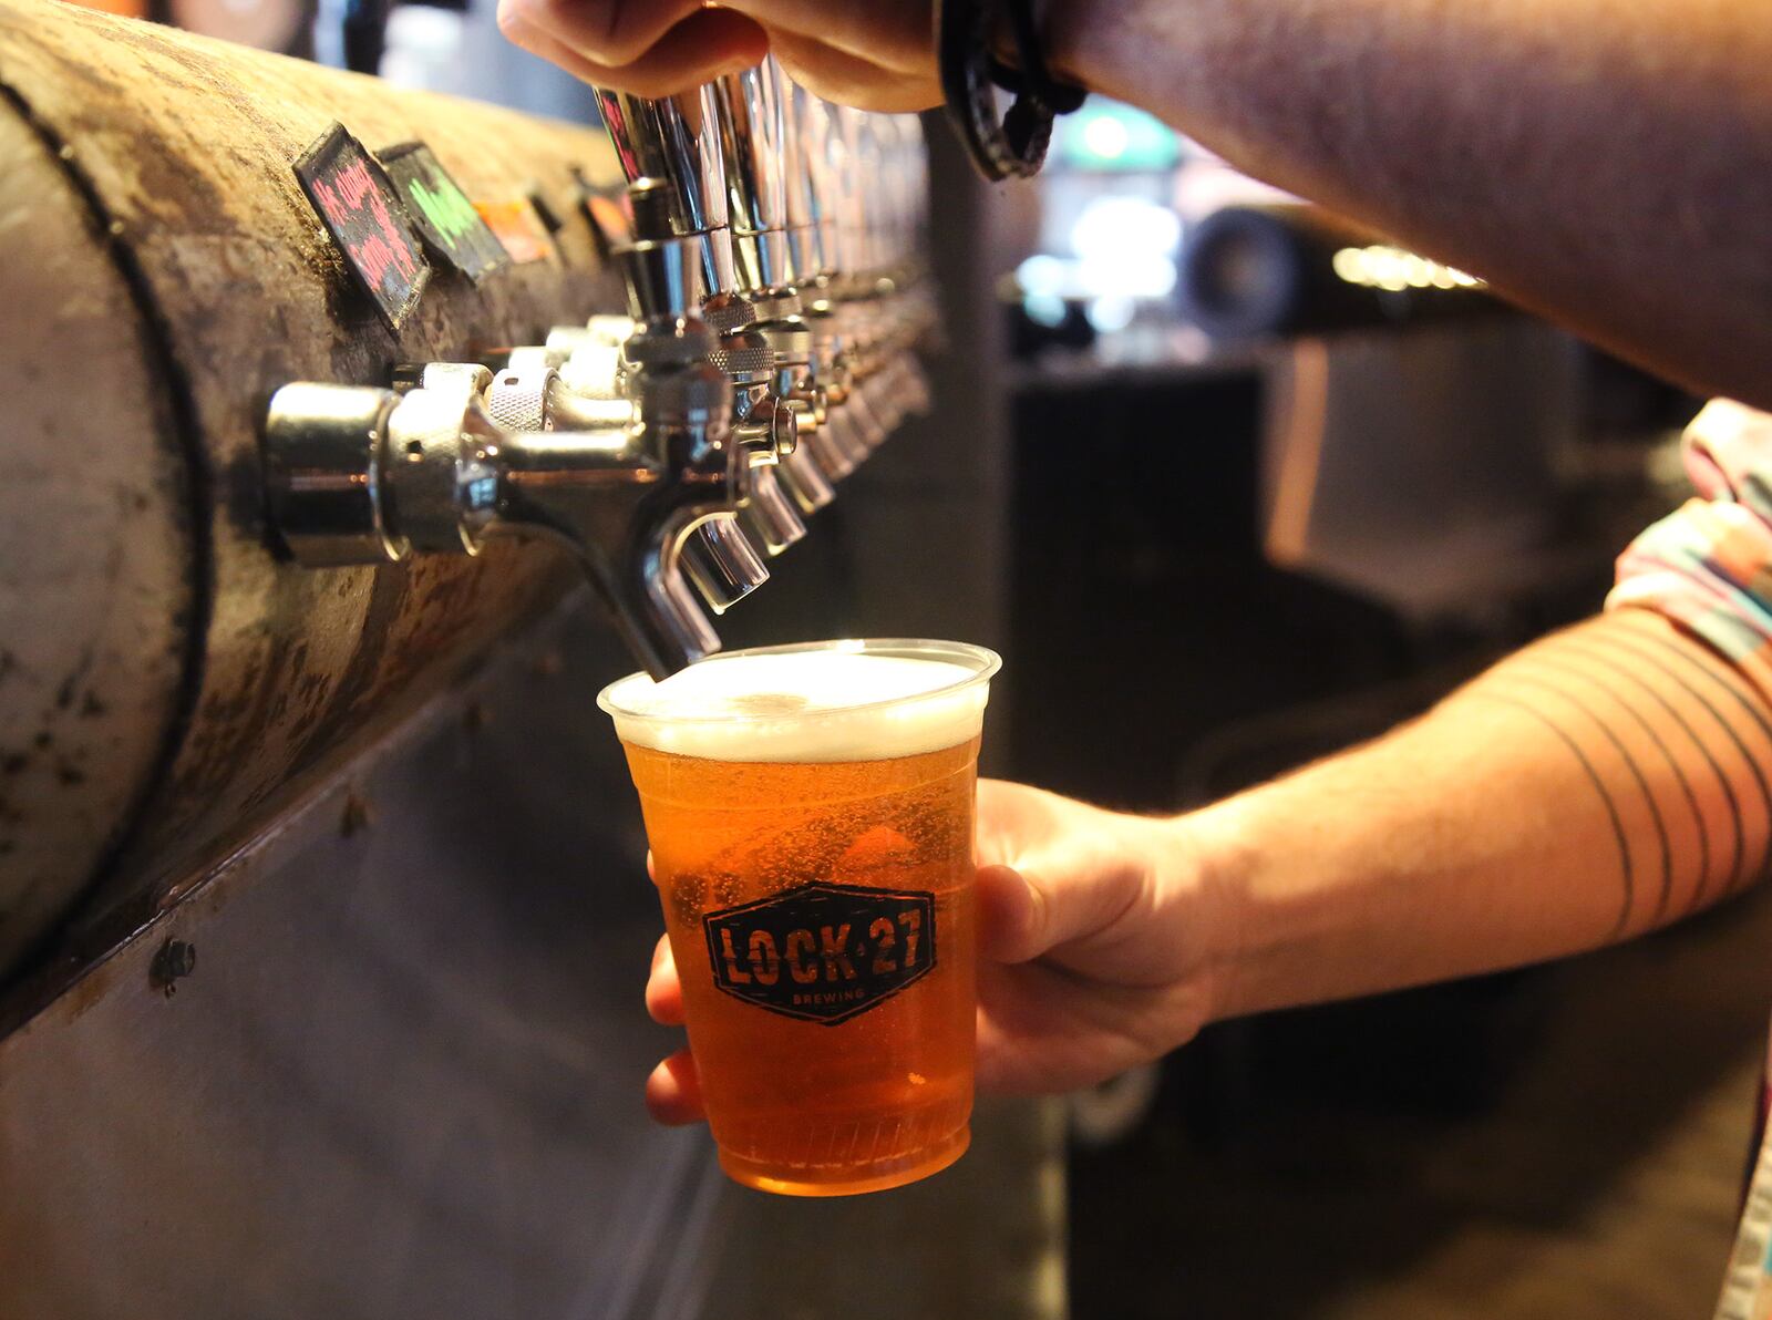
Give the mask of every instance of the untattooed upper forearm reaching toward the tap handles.
[(1772, 406), (1772, 23), (1735, 0), (1061, 0), (1056, 57), (1251, 174)]

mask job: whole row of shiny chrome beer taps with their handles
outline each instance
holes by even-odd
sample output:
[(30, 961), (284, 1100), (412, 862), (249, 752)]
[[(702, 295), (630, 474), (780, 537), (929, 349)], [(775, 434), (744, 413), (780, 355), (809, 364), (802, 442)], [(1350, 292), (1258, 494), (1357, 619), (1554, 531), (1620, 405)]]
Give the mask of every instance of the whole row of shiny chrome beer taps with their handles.
[(629, 314), (390, 388), (285, 384), (268, 500), (308, 567), (551, 537), (664, 677), (719, 648), (705, 610), (760, 586), (927, 409), (927, 156), (914, 115), (826, 103), (773, 58), (597, 103), (627, 179)]

